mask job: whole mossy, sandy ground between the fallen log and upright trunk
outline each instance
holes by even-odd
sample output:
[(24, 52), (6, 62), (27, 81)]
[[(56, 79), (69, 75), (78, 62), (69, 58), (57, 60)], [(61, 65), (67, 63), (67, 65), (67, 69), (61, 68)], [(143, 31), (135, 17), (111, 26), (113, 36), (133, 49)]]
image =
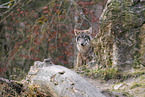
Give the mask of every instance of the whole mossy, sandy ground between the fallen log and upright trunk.
[(118, 72), (114, 69), (89, 70), (84, 66), (77, 72), (107, 97), (145, 97), (144, 67)]

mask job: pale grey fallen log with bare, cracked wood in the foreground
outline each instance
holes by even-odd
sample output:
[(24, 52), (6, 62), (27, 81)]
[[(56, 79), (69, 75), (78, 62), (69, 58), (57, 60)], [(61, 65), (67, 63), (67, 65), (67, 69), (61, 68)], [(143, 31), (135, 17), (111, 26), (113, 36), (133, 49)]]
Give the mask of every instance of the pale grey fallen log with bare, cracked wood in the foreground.
[(105, 97), (76, 72), (54, 65), (50, 59), (36, 61), (31, 66), (27, 80), (37, 86), (40, 92), (54, 97)]

